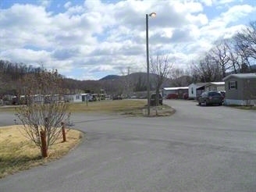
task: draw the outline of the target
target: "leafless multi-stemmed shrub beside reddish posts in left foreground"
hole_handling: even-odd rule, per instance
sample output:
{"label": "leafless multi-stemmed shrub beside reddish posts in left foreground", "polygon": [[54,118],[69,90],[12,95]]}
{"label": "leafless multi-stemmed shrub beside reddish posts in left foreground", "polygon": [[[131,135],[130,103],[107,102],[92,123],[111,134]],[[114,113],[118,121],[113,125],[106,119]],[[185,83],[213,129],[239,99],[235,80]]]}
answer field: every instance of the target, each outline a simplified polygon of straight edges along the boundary
{"label": "leafless multi-stemmed shrub beside reddish posts in left foreground", "polygon": [[17,108],[23,130],[39,148],[42,157],[62,133],[62,122],[69,118],[68,105],[62,101],[62,77],[56,71],[43,70],[22,79],[26,87],[26,104]]}

